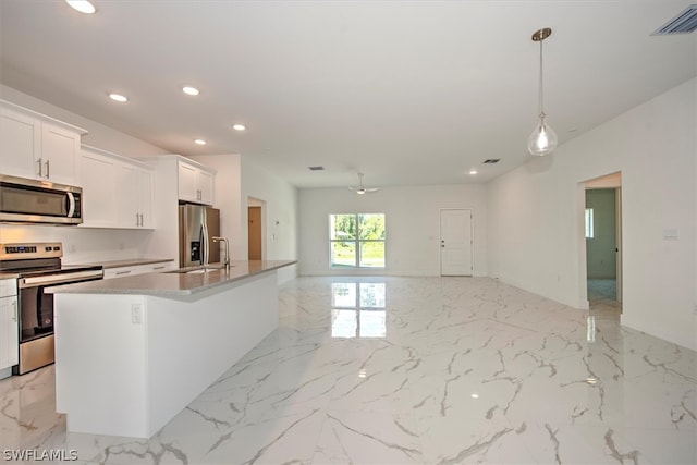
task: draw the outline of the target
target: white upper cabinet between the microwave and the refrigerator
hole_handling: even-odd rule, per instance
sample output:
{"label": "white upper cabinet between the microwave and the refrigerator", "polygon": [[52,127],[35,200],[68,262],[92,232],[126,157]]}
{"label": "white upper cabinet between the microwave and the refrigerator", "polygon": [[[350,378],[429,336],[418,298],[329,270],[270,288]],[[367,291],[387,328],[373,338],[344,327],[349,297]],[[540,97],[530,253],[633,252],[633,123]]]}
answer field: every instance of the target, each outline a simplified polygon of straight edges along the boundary
{"label": "white upper cabinet between the microwave and the refrigerator", "polygon": [[152,229],[154,170],[146,163],[83,146],[83,227]]}

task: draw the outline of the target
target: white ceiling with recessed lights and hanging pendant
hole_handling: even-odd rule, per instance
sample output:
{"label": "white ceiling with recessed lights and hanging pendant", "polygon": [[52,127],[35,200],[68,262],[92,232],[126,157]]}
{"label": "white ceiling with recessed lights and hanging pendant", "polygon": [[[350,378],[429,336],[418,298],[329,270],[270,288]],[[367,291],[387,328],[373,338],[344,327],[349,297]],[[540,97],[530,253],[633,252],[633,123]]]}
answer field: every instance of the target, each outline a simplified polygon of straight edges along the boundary
{"label": "white ceiling with recessed lights and hanging pendant", "polygon": [[694,34],[650,35],[685,0],[93,3],[0,0],[2,84],[171,152],[243,154],[298,187],[358,171],[367,186],[485,182],[524,163],[540,27],[561,144],[696,75]]}

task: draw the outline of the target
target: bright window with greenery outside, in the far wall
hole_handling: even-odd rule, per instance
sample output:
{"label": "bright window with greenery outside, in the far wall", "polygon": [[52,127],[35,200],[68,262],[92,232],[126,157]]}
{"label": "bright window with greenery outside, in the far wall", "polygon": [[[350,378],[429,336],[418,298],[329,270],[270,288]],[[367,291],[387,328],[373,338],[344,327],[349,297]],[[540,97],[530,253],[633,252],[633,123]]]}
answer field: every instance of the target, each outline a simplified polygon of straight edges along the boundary
{"label": "bright window with greenery outside, in the far wall", "polygon": [[329,216],[332,268],[384,268],[384,213]]}

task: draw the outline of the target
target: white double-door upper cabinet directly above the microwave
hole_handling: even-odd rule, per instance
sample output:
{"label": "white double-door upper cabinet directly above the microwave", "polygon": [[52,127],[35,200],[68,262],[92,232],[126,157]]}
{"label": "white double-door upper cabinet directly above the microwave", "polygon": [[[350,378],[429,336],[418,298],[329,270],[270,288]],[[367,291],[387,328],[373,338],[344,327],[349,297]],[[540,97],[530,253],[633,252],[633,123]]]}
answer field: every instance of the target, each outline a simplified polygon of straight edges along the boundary
{"label": "white double-door upper cabinet directly above the microwave", "polygon": [[87,132],[0,100],[0,172],[76,184],[80,138]]}

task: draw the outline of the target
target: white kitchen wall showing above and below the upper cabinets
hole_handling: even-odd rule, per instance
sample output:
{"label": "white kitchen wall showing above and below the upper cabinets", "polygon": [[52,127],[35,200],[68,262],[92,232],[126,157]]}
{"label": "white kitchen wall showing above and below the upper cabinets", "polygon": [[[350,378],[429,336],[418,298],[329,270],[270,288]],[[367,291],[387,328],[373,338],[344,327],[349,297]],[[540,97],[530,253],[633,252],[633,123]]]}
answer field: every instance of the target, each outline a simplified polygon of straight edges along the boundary
{"label": "white kitchen wall showing above and below the upper cabinets", "polygon": [[[127,157],[163,152],[159,147],[20,93],[11,87],[0,85],[0,98],[89,131],[89,134],[82,138],[84,144]],[[64,245],[63,261],[65,264],[142,257],[174,258],[160,255],[152,256],[149,250],[151,236],[152,231],[0,224],[0,243],[62,242]]]}

